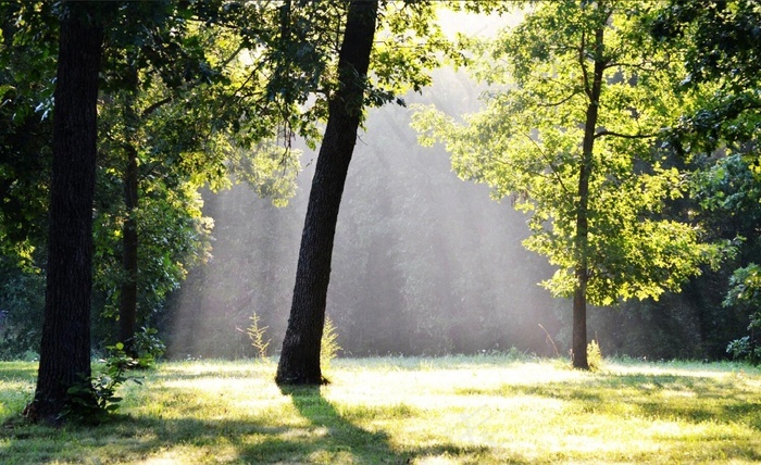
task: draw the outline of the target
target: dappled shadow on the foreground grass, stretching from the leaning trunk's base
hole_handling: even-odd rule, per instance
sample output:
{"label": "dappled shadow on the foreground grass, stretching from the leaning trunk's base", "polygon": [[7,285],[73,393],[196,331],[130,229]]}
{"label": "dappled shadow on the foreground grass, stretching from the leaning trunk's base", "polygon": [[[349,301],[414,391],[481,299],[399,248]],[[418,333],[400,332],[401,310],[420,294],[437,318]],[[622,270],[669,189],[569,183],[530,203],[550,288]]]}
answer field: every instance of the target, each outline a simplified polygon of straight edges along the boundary
{"label": "dappled shadow on the foreground grass, stretching from the leaning trunk's base", "polygon": [[[304,423],[280,422],[269,414],[202,419],[192,417],[191,407],[175,418],[115,414],[111,422],[100,426],[55,428],[18,422],[0,427],[0,463],[100,463],[116,456],[120,463],[142,462],[147,457],[192,463],[194,448],[213,448],[213,453],[224,454],[225,461],[245,464],[396,465],[423,456],[457,458],[489,453],[488,447],[451,442],[395,447],[386,432],[372,431],[348,420],[322,395],[320,388],[284,388],[282,392],[289,397]],[[173,454],[180,454],[179,458]],[[190,458],[182,454],[190,454]]]}

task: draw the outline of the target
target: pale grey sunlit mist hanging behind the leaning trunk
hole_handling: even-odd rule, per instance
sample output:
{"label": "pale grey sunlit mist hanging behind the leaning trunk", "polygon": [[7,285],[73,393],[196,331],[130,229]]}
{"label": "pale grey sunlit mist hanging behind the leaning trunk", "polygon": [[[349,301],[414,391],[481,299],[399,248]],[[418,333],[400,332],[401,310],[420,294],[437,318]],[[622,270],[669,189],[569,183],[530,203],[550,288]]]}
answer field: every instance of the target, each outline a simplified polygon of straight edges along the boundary
{"label": "pale grey sunlit mist hanging behind the leaning trunk", "polygon": [[[477,109],[463,73],[436,72],[408,103],[450,114]],[[551,275],[523,249],[527,216],[459,179],[442,147],[417,144],[412,111],[369,112],[338,217],[326,313],[345,355],[504,351],[553,354],[542,325],[559,327],[558,302],[538,286]],[[272,206],[245,185],[204,192],[214,218],[213,259],[194,269],[169,304],[173,357],[249,356],[255,312],[279,350],[316,152],[304,149],[298,193]]]}

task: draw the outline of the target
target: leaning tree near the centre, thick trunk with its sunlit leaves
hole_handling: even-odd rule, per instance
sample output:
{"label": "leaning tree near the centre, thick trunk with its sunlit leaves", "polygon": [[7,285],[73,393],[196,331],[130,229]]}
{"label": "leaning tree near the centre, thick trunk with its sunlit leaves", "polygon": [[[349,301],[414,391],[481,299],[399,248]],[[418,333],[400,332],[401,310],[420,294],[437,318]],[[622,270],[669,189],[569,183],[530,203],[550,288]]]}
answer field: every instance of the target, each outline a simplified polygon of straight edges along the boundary
{"label": "leaning tree near the centre, thick trunk with its sunlit leaves", "polygon": [[[451,52],[440,29],[432,22],[432,2],[382,4],[386,7],[383,14],[378,13],[378,4],[367,1],[314,2],[292,10],[290,2],[283,5],[279,37],[285,53],[276,56],[285,60],[275,61],[283,66],[276,67],[269,89],[286,102],[304,104],[316,97],[302,121],[313,124],[327,116],[327,127],[304,221],[294,301],[276,376],[278,384],[324,381],[320,370],[320,339],[336,219],[364,109],[394,100],[403,104],[396,95],[409,87],[420,90],[428,84],[431,77],[425,72],[438,62],[436,52]],[[344,11],[347,11],[344,41],[334,68],[333,32],[340,29]],[[336,23],[336,17],[341,23]],[[379,18],[384,20],[383,28],[376,26]],[[373,46],[376,28],[385,35],[382,43]],[[305,54],[304,50],[317,53]],[[322,55],[319,51],[327,53]],[[371,61],[373,73],[369,74]],[[289,76],[303,85],[278,86]]]}

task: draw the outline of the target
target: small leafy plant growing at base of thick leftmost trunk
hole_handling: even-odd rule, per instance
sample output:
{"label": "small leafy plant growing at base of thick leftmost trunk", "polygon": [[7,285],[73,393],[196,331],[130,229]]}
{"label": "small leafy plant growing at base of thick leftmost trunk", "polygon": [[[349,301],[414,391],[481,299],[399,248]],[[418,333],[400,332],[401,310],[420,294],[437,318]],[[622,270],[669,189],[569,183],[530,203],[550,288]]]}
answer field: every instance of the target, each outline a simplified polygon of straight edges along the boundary
{"label": "small leafy plant growing at base of thick leftmost trunk", "polygon": [[140,366],[138,359],[134,359],[124,351],[124,344],[118,342],[107,348],[109,357],[105,360],[105,369],[97,376],[82,376],[66,391],[66,405],[60,414],[60,418],[71,419],[82,424],[99,425],[108,422],[109,414],[118,410],[122,398],[116,395],[116,390],[127,380],[141,384],[135,377],[125,376],[125,372]]}

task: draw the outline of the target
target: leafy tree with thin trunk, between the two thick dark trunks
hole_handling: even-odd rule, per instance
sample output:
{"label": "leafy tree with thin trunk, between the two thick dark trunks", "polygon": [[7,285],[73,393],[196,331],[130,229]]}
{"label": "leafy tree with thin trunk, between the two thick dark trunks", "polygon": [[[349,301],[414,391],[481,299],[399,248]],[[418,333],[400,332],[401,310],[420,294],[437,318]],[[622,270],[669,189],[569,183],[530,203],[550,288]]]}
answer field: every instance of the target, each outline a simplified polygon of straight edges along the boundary
{"label": "leafy tree with thin trunk, between the two thick dark trunks", "polygon": [[[262,23],[259,8],[247,5],[251,12],[240,17],[211,2],[129,3],[113,27],[101,151],[104,177],[122,187],[122,199],[100,205],[109,232],[98,242],[108,259],[99,285],[107,294],[104,313],[117,319],[117,340],[134,355],[138,326],[155,319],[188,264],[209,256],[198,188],[208,183],[216,190],[235,176],[280,205],[294,192],[298,151],[273,150],[271,141],[275,128],[289,122],[278,120],[272,102],[240,97],[264,93],[263,79],[255,72],[247,76],[244,65],[247,38],[263,42],[258,39],[272,29],[264,22],[242,32],[245,20]],[[147,20],[137,25],[130,17]],[[145,27],[147,21],[153,27]],[[174,227],[166,227],[169,218]],[[159,241],[164,246],[154,247]]]}

